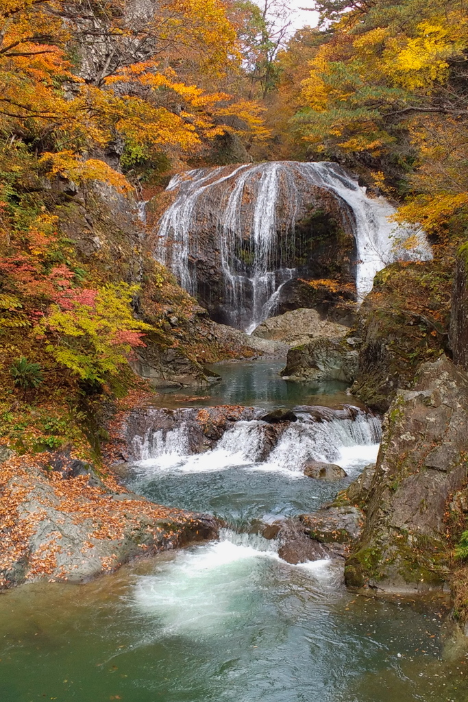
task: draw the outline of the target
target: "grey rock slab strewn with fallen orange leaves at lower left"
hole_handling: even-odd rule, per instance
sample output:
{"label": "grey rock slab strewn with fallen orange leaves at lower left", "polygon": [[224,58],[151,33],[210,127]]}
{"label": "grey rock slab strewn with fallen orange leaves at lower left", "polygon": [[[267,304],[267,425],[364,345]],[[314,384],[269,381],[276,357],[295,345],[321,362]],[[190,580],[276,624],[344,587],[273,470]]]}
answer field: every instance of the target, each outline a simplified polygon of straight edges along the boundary
{"label": "grey rock slab strewn with fallen orange leaves at lower left", "polygon": [[4,588],[41,578],[83,582],[135,557],[218,534],[219,523],[209,515],[159,508],[125,491],[91,488],[81,476],[51,480],[26,458],[15,465],[1,499],[8,502],[11,519],[2,538]]}

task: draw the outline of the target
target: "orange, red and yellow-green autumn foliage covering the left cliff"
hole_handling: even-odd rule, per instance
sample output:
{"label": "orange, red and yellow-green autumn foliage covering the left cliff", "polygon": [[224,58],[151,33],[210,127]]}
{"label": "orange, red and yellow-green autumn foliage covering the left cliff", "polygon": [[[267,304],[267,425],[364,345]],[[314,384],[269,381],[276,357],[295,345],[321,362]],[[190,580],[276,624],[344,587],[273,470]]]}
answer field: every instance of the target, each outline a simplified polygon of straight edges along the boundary
{"label": "orange, red and yellow-green autumn foliage covering the left cliff", "polygon": [[220,0],[2,4],[2,362],[36,353],[48,371],[105,383],[145,344],[149,327],[133,313],[138,289],[118,276],[96,279],[45,194],[60,179],[85,190],[97,181],[131,190],[105,157],[116,142],[128,165],[161,152],[193,157],[229,128],[228,115],[261,133],[255,105],[178,77],[174,56],[183,51],[218,78],[239,66],[236,31]]}

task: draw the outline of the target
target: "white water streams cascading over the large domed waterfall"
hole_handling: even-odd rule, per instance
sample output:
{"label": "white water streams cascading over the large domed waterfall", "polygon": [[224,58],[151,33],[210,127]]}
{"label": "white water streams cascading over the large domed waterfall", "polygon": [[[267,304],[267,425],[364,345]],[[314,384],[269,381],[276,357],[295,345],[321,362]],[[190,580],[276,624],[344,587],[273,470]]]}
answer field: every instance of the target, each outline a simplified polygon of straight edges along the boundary
{"label": "white water streams cascading over the large domed waterfall", "polygon": [[[296,277],[295,225],[309,205],[339,213],[356,241],[356,291],[363,299],[378,270],[399,258],[427,258],[422,235],[413,251],[399,251],[408,231],[389,222],[394,208],[369,198],[337,164],[272,161],[227,168],[199,168],[178,174],[168,185],[176,193],[159,222],[156,256],[196,295],[194,261],[201,258],[203,232],[214,227],[212,266],[220,265],[230,322],[252,331],[272,312],[280,287]],[[207,199],[212,198],[207,206]],[[205,276],[206,277],[206,276]],[[209,274],[208,274],[209,277]]]}

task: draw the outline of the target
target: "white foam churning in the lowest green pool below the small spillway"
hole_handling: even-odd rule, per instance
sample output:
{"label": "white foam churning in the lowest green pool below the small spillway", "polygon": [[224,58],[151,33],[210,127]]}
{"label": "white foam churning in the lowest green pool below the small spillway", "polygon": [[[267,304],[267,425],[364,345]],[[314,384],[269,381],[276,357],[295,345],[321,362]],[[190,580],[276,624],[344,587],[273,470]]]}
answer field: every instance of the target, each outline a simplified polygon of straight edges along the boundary
{"label": "white foam churning in the lowest green pool below the small spillway", "polygon": [[312,597],[340,588],[330,559],[293,565],[277,549],[276,541],[222,529],[218,541],[178,552],[171,561],[159,562],[154,574],[141,576],[133,606],[154,617],[162,635],[203,639],[225,635],[250,618],[255,597],[262,596],[275,569],[304,574],[302,587],[310,588]]}

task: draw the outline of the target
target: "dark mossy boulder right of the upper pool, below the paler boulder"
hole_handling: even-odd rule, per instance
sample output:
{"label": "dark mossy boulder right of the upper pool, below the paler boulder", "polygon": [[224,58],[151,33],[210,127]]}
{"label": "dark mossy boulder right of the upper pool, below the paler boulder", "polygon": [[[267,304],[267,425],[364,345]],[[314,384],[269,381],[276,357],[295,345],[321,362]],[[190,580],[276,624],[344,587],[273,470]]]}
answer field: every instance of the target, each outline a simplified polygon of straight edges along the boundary
{"label": "dark mossy boulder right of the upper pool, below the paler boulder", "polygon": [[320,337],[288,351],[286,380],[341,380],[352,383],[358,367],[356,339]]}

